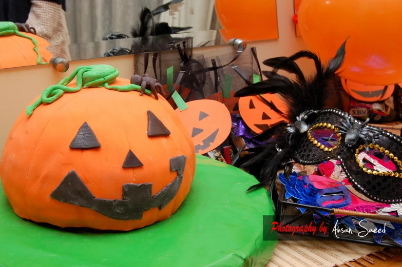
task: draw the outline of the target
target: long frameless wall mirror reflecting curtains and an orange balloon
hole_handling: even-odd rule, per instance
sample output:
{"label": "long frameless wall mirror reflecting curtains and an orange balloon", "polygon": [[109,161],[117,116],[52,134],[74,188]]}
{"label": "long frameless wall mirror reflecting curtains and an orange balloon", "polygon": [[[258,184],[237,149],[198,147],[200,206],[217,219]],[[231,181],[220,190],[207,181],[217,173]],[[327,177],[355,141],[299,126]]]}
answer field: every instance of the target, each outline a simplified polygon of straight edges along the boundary
{"label": "long frameless wall mirror reflecting curtains and an orange balloon", "polygon": [[[68,61],[170,50],[171,44],[183,40],[196,48],[226,44],[230,38],[246,41],[278,38],[276,0],[251,0],[247,3],[243,0],[26,2],[25,9],[18,6],[24,12],[14,14],[12,7],[9,10],[0,8],[0,13],[8,12],[0,14],[0,20],[21,23],[19,31],[36,39],[43,38],[44,42],[38,41],[39,47],[43,46],[52,56]],[[9,1],[10,6],[12,3]],[[259,6],[261,8],[257,8]],[[264,23],[261,25],[255,17],[264,19]],[[30,28],[35,29],[36,36]],[[51,56],[42,56],[42,61],[49,62],[48,57]],[[27,62],[11,67],[34,64]],[[0,62],[0,69],[8,66]]]}

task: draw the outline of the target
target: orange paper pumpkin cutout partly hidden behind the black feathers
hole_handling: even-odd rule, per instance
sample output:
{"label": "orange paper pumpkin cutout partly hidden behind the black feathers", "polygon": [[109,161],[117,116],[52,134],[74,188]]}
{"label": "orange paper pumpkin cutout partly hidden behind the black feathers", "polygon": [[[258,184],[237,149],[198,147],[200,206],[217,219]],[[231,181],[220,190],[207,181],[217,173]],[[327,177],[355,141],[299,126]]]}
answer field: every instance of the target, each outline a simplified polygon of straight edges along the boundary
{"label": "orange paper pumpkin cutout partly hidden behind the black feathers", "polygon": [[[277,95],[263,94],[262,97],[286,114],[288,108]],[[259,96],[240,97],[239,109],[246,125],[257,134],[270,129],[271,125],[281,120],[286,120],[280,113],[266,105]]]}

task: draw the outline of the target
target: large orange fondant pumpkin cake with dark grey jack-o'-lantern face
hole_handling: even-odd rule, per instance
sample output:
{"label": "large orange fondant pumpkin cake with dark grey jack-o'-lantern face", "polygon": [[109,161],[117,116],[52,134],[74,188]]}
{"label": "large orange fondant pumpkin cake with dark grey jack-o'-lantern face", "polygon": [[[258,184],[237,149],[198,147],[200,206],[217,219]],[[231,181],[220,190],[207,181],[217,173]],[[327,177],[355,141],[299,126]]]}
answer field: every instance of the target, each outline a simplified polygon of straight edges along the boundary
{"label": "large orange fondant pumpkin cake with dark grey jack-o'-lantern face", "polygon": [[[129,84],[118,78],[111,86]],[[41,105],[30,117],[24,112],[0,167],[17,215],[128,231],[179,208],[194,178],[195,151],[163,97],[88,88]]]}

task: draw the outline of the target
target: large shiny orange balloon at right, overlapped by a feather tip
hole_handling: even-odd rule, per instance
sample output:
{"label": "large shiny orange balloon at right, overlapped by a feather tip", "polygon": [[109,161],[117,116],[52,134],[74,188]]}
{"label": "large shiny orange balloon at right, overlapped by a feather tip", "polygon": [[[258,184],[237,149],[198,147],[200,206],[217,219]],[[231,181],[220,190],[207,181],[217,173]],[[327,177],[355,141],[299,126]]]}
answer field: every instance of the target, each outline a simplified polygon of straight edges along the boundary
{"label": "large shiny orange balloon at right, overlapped by a feather tip", "polygon": [[309,48],[326,60],[350,37],[339,75],[386,86],[402,81],[401,13],[400,0],[303,0],[298,26]]}

